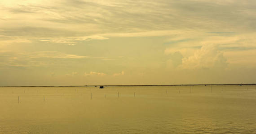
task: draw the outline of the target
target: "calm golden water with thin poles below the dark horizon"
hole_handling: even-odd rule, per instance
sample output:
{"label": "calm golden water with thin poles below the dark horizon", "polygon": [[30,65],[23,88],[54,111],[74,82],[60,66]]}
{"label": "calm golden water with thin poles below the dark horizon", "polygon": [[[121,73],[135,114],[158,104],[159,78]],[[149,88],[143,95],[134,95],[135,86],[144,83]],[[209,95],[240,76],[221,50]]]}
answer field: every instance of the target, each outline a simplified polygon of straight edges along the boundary
{"label": "calm golden water with thin poles below the dark horizon", "polygon": [[0,87],[0,133],[255,134],[256,86]]}

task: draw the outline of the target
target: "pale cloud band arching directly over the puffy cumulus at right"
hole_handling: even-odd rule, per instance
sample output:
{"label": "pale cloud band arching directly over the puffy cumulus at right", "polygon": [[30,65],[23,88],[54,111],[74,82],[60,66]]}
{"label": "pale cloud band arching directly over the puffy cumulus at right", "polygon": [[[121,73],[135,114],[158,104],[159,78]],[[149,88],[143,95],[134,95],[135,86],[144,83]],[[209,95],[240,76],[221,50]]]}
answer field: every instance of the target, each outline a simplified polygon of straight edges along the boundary
{"label": "pale cloud band arching directly over the puffy cumulus at right", "polygon": [[[225,32],[214,32],[225,33]],[[236,50],[252,50],[256,49],[256,36],[255,32],[252,33],[234,33],[234,34],[209,34],[209,33],[197,33],[197,34],[184,34],[171,36],[165,43],[165,54],[173,54],[177,51],[181,52],[184,57],[190,57],[194,55],[194,52],[201,49],[205,44],[212,44],[218,47],[218,50],[236,51]],[[193,38],[188,40],[188,38]],[[185,40],[185,42],[183,42]],[[182,42],[180,42],[182,41]],[[246,52],[245,52],[246,53]]]}

